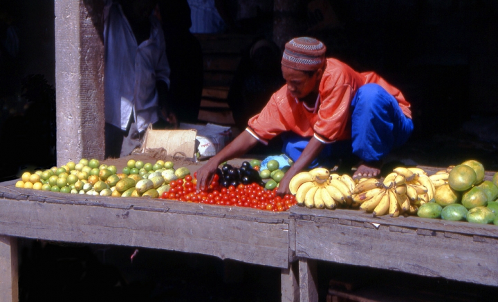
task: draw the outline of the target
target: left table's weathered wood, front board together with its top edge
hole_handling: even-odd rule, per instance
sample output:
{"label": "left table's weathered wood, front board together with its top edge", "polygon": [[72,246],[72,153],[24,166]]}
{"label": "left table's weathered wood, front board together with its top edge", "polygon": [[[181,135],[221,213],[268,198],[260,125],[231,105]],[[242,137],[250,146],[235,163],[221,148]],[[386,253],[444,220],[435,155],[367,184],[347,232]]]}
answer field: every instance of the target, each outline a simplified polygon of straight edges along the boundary
{"label": "left table's weathered wood, front board together with its top edge", "polygon": [[0,234],[208,254],[288,268],[288,213],[0,185]]}

